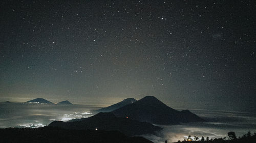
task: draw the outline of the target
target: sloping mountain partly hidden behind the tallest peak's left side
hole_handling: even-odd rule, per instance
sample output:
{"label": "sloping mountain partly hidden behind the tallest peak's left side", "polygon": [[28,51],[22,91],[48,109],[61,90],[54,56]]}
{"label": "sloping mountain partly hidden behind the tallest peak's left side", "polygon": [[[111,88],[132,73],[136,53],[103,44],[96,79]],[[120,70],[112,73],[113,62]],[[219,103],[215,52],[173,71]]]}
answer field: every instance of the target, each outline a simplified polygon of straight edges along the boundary
{"label": "sloping mountain partly hidden behind the tallest peak's left side", "polygon": [[122,106],[125,106],[127,104],[131,104],[131,103],[134,103],[136,102],[137,100],[134,99],[134,98],[126,98],[124,99],[123,101],[121,102],[118,102],[116,104],[113,104],[111,106],[108,106],[108,107],[105,107],[105,108],[101,108],[99,110],[97,110],[98,112],[111,112],[115,109],[118,109],[118,108],[121,108]]}

